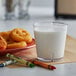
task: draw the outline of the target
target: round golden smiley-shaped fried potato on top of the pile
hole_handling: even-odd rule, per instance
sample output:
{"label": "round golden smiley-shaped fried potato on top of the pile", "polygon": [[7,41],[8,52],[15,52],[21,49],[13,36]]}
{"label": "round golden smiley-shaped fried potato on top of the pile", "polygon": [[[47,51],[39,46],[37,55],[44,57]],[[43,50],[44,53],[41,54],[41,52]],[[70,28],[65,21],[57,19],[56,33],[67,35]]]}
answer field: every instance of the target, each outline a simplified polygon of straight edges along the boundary
{"label": "round golden smiley-shaped fried potato on top of the pile", "polygon": [[15,41],[26,41],[26,43],[30,43],[32,41],[30,33],[21,28],[13,29],[10,33],[10,37]]}

